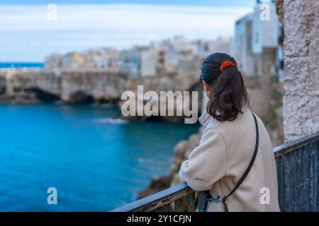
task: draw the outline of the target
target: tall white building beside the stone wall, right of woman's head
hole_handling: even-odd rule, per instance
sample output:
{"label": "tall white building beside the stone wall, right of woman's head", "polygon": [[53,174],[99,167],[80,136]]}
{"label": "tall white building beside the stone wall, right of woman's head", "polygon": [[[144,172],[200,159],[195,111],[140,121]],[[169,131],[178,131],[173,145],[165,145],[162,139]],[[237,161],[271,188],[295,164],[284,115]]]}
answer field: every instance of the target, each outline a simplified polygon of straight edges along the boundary
{"label": "tall white building beside the stone wall, right of woman's head", "polygon": [[234,55],[245,76],[278,76],[279,20],[273,3],[257,3],[235,24]]}

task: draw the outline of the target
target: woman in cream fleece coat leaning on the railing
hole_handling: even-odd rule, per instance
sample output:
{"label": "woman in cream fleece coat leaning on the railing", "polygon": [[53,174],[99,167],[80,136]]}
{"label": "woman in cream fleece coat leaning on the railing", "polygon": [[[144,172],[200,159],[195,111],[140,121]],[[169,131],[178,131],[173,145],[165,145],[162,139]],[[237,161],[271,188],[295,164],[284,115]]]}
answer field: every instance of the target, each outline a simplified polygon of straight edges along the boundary
{"label": "woman in cream fleece coat leaning on the railing", "polygon": [[209,190],[207,211],[279,211],[272,142],[247,107],[235,59],[221,53],[206,57],[200,79],[209,98],[198,119],[203,135],[179,177],[195,191]]}

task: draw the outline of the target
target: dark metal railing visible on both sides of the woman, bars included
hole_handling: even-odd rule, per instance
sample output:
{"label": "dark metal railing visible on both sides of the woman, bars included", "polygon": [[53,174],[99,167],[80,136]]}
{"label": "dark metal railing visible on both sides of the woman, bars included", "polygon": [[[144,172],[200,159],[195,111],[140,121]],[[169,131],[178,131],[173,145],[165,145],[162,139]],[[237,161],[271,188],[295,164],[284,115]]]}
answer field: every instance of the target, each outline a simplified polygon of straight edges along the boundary
{"label": "dark metal railing visible on both sides of the woman, bars included", "polygon": [[[319,132],[274,148],[281,211],[319,210]],[[176,211],[203,210],[203,192],[186,183],[112,210]]]}

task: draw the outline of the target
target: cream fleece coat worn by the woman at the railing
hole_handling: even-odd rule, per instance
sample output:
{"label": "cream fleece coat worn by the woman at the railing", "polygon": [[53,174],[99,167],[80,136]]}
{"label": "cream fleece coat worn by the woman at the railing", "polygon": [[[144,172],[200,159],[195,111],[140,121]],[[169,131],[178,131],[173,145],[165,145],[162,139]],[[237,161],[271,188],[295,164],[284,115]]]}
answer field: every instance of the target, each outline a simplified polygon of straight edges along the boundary
{"label": "cream fleece coat worn by the woman at the railing", "polygon": [[[213,198],[226,196],[244,174],[254,152],[256,129],[250,109],[242,111],[234,121],[217,121],[207,112],[198,119],[203,136],[179,171],[179,177],[195,191],[210,190]],[[230,212],[279,211],[272,142],[262,120],[257,117],[257,121],[258,153],[245,181],[227,198]],[[223,210],[222,202],[208,202],[207,211]]]}

